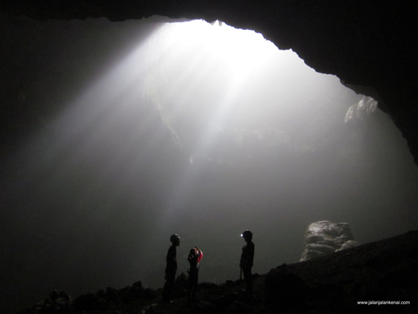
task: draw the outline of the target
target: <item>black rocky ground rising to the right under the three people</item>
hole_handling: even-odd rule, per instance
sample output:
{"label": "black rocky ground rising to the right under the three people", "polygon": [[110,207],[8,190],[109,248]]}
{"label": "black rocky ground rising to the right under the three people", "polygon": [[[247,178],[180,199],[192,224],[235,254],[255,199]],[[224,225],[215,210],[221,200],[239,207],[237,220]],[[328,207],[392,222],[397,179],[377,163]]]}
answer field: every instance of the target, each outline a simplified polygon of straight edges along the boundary
{"label": "black rocky ground rising to the right under the three people", "polygon": [[[254,274],[251,296],[244,287],[241,281],[200,283],[196,301],[187,303],[182,274],[171,304],[160,304],[161,289],[144,289],[137,282],[74,300],[54,291],[19,314],[418,313],[418,231]],[[409,304],[396,304],[404,301]]]}

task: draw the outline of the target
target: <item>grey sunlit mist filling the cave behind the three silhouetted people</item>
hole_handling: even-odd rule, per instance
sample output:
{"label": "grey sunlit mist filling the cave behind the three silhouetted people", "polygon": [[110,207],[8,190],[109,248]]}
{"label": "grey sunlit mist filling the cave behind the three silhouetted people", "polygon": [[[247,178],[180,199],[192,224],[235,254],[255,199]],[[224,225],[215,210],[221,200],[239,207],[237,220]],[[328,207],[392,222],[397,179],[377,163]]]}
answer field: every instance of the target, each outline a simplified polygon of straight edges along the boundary
{"label": "grey sunlit mist filling the cave behind the three silhouetted people", "polygon": [[[1,16],[1,304],[298,262],[310,223],[360,244],[417,228],[418,171],[380,110],[297,53],[222,22]],[[279,47],[280,48],[280,47]]]}

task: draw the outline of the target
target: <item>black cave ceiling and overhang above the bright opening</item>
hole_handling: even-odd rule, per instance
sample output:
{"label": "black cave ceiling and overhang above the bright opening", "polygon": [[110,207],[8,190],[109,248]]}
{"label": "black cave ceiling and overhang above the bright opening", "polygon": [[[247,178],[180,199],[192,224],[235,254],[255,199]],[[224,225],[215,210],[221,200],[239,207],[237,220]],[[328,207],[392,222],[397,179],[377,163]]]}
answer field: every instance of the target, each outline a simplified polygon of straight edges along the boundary
{"label": "black cave ceiling and overhang above the bright opening", "polygon": [[18,0],[1,3],[0,12],[37,20],[162,15],[254,29],[280,49],[297,52],[318,72],[337,75],[378,100],[418,163],[418,10],[412,1]]}

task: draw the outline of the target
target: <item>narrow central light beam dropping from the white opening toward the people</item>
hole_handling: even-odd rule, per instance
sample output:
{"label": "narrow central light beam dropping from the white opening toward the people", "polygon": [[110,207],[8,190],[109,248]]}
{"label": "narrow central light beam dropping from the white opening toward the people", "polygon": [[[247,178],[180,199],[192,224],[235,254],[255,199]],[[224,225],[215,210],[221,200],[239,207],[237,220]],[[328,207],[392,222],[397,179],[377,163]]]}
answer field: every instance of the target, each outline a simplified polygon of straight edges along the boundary
{"label": "narrow central light beam dropping from the white opening toward the people", "polygon": [[[238,111],[245,111],[242,95],[249,89],[249,85],[254,84],[254,80],[266,80],[258,69],[268,67],[274,58],[277,60],[279,50],[260,33],[234,29],[218,22],[209,24],[201,20],[166,24],[155,37],[163,43],[162,59],[170,61],[167,68],[175,67],[176,63],[184,66],[176,70],[176,76],[170,81],[169,90],[164,93],[162,100],[171,103],[171,114],[176,116],[191,107],[192,110],[193,107],[210,107],[206,111],[208,114],[205,116],[205,128],[190,153],[189,163],[192,165],[194,156],[210,151],[218,140],[219,131],[222,133],[222,129],[227,127],[231,116]],[[284,64],[294,63],[298,59],[291,51],[281,51],[281,55],[284,56],[281,61]],[[213,81],[222,84],[213,93],[206,93],[206,98],[196,99],[196,91]],[[176,101],[173,103],[172,99]],[[193,105],[185,105],[189,103]],[[256,106],[258,103],[254,103],[253,107]],[[251,112],[247,115],[251,115]],[[167,221],[173,219],[175,209],[182,207],[194,180],[199,179],[199,174],[192,169],[193,167],[189,167],[189,171],[185,172],[183,179],[168,198]]]}

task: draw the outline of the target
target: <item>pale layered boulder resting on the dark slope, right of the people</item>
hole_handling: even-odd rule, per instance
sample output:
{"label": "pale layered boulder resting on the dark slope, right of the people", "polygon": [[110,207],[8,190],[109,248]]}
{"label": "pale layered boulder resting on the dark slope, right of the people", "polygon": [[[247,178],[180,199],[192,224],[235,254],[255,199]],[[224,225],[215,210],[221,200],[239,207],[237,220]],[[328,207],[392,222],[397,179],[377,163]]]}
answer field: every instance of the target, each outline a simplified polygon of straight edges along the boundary
{"label": "pale layered boulder resting on the dark slope, right of the people", "polygon": [[305,249],[300,262],[358,245],[348,223],[329,220],[311,223],[304,235]]}

